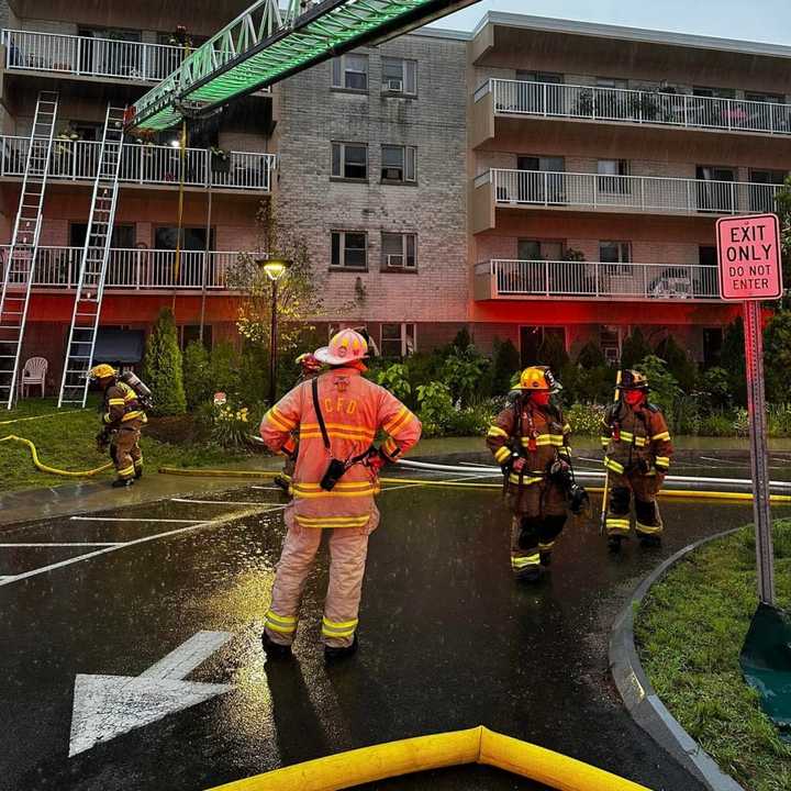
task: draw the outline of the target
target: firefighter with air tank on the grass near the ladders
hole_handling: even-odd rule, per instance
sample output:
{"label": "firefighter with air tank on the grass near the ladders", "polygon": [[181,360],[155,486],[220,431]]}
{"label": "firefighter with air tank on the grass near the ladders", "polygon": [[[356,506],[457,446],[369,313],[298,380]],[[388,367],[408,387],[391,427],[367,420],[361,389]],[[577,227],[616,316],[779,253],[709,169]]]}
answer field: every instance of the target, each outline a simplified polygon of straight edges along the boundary
{"label": "firefighter with air tank on the grass near the ladders", "polygon": [[91,368],[90,378],[97,380],[104,392],[102,430],[97,435],[97,446],[101,452],[110,447],[110,458],[118,474],[113,486],[132,486],[143,476],[140,437],[141,428],[148,420],[145,410],[137,392],[119,379],[112,366],[102,364]]}

